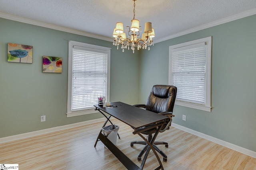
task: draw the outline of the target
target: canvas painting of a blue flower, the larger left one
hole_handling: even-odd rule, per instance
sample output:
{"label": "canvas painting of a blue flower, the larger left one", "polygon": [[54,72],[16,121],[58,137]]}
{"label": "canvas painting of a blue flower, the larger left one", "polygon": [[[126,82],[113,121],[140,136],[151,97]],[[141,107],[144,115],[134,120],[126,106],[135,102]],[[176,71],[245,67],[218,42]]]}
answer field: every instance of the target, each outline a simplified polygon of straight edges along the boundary
{"label": "canvas painting of a blue flower, the larger left one", "polygon": [[32,63],[33,46],[8,43],[7,61],[14,63]]}

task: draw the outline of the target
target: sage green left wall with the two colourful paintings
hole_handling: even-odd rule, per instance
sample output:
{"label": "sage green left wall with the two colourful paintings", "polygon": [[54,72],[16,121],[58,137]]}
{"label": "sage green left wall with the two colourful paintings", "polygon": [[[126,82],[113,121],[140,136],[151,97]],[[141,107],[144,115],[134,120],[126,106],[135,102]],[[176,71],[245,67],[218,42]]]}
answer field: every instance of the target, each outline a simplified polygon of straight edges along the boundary
{"label": "sage green left wall with the two colourful paintings", "polygon": [[[110,41],[0,18],[0,138],[102,117],[66,117],[69,40],[112,48],[110,101],[138,103],[138,53],[122,53]],[[7,62],[7,43],[32,45],[33,63]],[[43,55],[62,57],[62,73],[42,73]]]}

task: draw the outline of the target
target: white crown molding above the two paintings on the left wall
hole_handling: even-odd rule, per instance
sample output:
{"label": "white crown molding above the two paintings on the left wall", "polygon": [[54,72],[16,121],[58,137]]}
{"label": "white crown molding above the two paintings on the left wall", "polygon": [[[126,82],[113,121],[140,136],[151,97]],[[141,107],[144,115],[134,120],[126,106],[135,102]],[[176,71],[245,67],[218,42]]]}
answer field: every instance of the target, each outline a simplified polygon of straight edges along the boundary
{"label": "white crown molding above the two paintings on the left wall", "polygon": [[0,12],[0,18],[5,18],[5,19],[8,19],[8,20],[28,23],[28,24],[31,24],[31,25],[37,25],[37,26],[40,26],[40,27],[46,27],[46,28],[50,28],[50,29],[56,29],[58,31],[74,33],[74,34],[77,34],[77,35],[83,35],[83,36],[86,36],[86,37],[92,37],[92,38],[101,39],[101,40],[105,40],[105,41],[113,41],[113,39],[109,38],[109,37],[104,37],[104,36],[100,36],[100,35],[96,35],[96,34],[92,34],[92,33],[86,33],[84,31],[78,31],[76,29],[60,27],[60,26],[57,26],[57,25],[52,25],[52,24],[49,24],[49,23],[30,20],[30,19],[26,19],[26,18],[22,18],[22,17],[18,17],[18,16],[13,16],[13,15],[6,14],[6,13],[3,13],[3,12]]}

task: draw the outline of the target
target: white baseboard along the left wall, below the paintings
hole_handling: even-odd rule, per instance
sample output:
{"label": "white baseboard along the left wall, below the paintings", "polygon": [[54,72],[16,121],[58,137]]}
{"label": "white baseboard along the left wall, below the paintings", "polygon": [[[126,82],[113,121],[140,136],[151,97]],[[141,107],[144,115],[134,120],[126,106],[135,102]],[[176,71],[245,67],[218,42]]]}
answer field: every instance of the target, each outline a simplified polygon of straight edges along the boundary
{"label": "white baseboard along the left wall, below the paintings", "polygon": [[101,122],[101,121],[105,121],[105,120],[106,120],[106,118],[103,117],[103,118],[99,118],[99,119],[82,121],[82,122],[73,123],[73,124],[69,124],[69,125],[52,127],[52,128],[48,128],[48,129],[42,129],[42,130],[39,130],[39,131],[33,131],[33,132],[28,132],[28,133],[22,133],[22,134],[19,134],[19,135],[3,137],[3,138],[0,138],[0,143],[6,143],[6,142],[10,142],[10,141],[16,141],[16,140],[19,140],[19,139],[28,138],[28,137],[44,135],[46,133],[61,131],[61,130],[64,130],[64,129],[70,129],[70,128],[73,128],[73,127],[88,125],[88,124],[97,123],[97,122]]}

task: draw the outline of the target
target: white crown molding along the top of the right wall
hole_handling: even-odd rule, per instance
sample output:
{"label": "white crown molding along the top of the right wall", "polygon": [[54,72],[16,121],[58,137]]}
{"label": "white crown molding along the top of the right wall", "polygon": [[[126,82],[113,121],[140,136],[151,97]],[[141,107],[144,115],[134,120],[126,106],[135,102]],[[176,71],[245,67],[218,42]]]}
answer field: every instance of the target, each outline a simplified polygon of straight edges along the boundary
{"label": "white crown molding along the top of the right wall", "polygon": [[227,22],[230,22],[230,21],[238,20],[240,18],[245,18],[245,17],[252,16],[252,15],[255,15],[255,14],[256,14],[256,8],[254,8],[252,10],[242,12],[242,13],[239,13],[239,14],[236,14],[236,15],[233,15],[233,16],[223,18],[221,20],[213,21],[213,22],[210,22],[210,23],[206,23],[204,25],[200,25],[198,27],[187,29],[185,31],[181,31],[179,33],[175,33],[175,34],[169,35],[169,36],[161,38],[161,39],[157,39],[156,41],[154,41],[154,43],[159,43],[159,42],[162,42],[162,41],[166,41],[168,39],[172,39],[172,38],[175,38],[175,37],[180,37],[182,35],[193,33],[193,32],[196,32],[196,31],[200,31],[202,29],[206,29],[206,28],[209,28],[209,27],[214,27],[216,25],[220,25],[220,24],[227,23]]}

